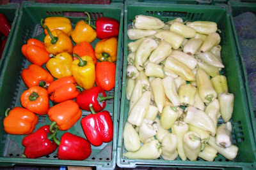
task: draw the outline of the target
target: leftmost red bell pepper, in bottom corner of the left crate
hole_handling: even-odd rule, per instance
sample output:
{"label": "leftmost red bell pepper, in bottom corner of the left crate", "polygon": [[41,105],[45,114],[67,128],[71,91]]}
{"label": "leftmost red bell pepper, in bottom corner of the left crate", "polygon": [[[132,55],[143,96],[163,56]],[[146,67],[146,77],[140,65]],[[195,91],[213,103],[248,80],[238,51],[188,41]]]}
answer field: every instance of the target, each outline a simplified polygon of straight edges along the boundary
{"label": "leftmost red bell pepper, in bottom corner of the left crate", "polygon": [[57,131],[52,134],[49,127],[44,125],[22,139],[22,145],[25,147],[24,154],[27,158],[44,157],[57,149],[58,145],[52,140]]}

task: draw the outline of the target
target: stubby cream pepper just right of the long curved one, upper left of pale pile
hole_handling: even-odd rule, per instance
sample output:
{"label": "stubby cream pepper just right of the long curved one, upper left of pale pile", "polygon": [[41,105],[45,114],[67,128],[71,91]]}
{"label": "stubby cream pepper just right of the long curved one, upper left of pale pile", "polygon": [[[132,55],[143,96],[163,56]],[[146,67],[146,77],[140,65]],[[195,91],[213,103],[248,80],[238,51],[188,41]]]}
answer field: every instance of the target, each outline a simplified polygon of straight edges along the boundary
{"label": "stubby cream pepper just right of the long curved one, upper left of pale pile", "polygon": [[157,48],[150,54],[149,62],[159,64],[172,53],[172,46],[165,41],[160,41]]}

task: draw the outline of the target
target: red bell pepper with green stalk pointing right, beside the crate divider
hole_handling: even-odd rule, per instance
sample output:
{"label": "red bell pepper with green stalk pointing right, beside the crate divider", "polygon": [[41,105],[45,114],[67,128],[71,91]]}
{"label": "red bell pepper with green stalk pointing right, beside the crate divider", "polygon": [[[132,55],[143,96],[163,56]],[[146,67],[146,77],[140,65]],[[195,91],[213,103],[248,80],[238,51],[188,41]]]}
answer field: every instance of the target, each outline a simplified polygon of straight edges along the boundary
{"label": "red bell pepper with green stalk pointing right, beside the crate divider", "polygon": [[98,87],[94,86],[91,89],[83,90],[77,97],[76,103],[82,110],[90,110],[90,103],[93,104],[93,110],[96,112],[104,110],[106,107],[106,100],[113,99],[114,96],[107,96],[106,92]]}

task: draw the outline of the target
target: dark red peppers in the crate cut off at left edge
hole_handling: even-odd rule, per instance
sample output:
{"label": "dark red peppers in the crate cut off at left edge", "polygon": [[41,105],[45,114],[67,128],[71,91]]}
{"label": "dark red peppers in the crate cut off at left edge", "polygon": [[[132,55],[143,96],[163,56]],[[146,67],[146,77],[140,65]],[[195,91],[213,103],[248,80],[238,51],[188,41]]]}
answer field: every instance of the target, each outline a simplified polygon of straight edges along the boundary
{"label": "dark red peppers in the crate cut off at left edge", "polygon": [[6,18],[6,15],[4,13],[0,13],[0,59],[2,58],[3,52],[4,52],[4,46],[6,45],[7,38],[11,31],[11,25],[8,19]]}

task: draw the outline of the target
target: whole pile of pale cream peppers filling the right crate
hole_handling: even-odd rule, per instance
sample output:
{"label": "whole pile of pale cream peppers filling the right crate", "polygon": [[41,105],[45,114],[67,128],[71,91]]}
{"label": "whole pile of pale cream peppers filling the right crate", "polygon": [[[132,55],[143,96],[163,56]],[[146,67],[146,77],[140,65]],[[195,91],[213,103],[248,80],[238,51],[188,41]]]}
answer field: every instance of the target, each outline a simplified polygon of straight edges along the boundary
{"label": "whole pile of pale cream peppers filling the right crate", "polygon": [[164,23],[147,15],[132,22],[123,156],[213,161],[220,153],[235,159],[234,94],[228,92],[217,24],[182,18]]}

